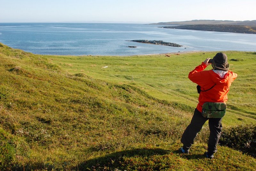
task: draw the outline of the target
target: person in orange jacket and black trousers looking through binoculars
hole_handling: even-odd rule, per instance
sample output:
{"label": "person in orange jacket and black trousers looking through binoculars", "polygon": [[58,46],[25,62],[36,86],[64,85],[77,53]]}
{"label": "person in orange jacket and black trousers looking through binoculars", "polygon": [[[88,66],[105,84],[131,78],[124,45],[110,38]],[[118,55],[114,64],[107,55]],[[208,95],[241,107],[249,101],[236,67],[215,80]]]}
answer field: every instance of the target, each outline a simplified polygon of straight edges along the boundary
{"label": "person in orange jacket and black trousers looking through binoculars", "polygon": [[[221,105],[226,106],[229,88],[231,83],[236,79],[237,74],[229,70],[228,57],[225,53],[219,52],[214,56],[212,62],[209,62],[209,60],[210,58],[206,58],[201,65],[197,66],[188,74],[188,78],[201,87],[199,87],[201,92],[198,98],[199,103],[196,106],[192,120],[181,137],[183,147],[180,148],[180,152],[189,153],[189,149],[194,144],[194,139],[198,132],[204,123],[209,120],[210,136],[208,140],[208,151],[204,155],[209,159],[213,159],[213,154],[217,152],[217,144],[221,135],[222,117],[214,117],[214,114],[211,115],[211,113],[208,117],[203,116],[203,106],[204,104],[208,105],[208,102],[212,102],[214,105],[221,103]],[[213,69],[204,71],[210,64],[212,64]]]}

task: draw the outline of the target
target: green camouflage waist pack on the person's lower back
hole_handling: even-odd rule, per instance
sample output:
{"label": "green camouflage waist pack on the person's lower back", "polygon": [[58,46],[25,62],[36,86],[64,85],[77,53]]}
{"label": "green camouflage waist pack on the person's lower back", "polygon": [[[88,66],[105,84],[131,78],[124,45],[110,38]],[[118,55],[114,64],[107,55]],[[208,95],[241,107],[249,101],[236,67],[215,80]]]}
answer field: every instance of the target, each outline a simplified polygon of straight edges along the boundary
{"label": "green camouflage waist pack on the person's lower back", "polygon": [[205,118],[222,118],[226,113],[225,103],[206,102],[203,105],[202,115]]}

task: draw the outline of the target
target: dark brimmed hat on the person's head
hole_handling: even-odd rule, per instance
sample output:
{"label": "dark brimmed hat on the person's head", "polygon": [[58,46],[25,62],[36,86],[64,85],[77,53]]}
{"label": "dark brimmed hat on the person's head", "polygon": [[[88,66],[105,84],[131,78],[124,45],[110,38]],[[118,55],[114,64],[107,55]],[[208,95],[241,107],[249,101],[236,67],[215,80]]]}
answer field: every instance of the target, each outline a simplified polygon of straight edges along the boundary
{"label": "dark brimmed hat on the person's head", "polygon": [[228,57],[225,53],[219,52],[212,59],[212,67],[216,70],[228,71]]}

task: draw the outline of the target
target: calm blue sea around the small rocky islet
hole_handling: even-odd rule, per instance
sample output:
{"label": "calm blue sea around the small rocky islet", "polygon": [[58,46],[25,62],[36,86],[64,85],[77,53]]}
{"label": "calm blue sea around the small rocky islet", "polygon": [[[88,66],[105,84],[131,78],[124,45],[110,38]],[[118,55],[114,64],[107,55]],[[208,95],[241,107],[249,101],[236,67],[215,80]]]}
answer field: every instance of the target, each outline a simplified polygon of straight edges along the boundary
{"label": "calm blue sea around the small rocky islet", "polygon": [[[52,55],[139,55],[178,51],[256,50],[256,34],[158,27],[110,23],[0,23],[0,42],[35,54]],[[163,40],[183,47],[126,41],[136,39]]]}

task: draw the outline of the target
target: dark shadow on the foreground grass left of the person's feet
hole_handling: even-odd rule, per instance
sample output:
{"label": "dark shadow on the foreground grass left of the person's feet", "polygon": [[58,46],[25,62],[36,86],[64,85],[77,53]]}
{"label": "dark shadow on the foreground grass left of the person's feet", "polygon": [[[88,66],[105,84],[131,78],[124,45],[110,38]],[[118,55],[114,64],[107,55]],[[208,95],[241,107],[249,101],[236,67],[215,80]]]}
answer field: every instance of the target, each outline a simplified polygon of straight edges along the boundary
{"label": "dark shadow on the foreground grass left of the person's feet", "polygon": [[90,159],[81,163],[76,167],[78,170],[113,170],[115,168],[125,167],[124,158],[130,157],[150,157],[153,155],[169,154],[170,150],[163,150],[160,148],[148,149],[140,148],[133,150],[126,150],[121,152],[114,152],[103,157]]}

